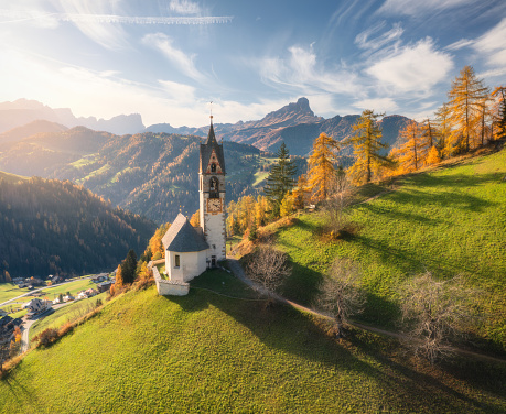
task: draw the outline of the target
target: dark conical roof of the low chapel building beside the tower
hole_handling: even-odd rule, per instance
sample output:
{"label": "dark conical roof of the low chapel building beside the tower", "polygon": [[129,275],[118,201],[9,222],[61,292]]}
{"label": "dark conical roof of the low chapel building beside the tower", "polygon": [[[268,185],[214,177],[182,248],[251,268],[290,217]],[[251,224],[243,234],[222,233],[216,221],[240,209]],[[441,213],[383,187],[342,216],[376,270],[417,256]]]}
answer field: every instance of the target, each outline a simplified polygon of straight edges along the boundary
{"label": "dark conical roof of the low chapel building beside the tower", "polygon": [[181,213],[175,218],[165,236],[162,238],[165,250],[185,253],[191,251],[202,251],[209,248],[209,244],[190,224],[189,219]]}

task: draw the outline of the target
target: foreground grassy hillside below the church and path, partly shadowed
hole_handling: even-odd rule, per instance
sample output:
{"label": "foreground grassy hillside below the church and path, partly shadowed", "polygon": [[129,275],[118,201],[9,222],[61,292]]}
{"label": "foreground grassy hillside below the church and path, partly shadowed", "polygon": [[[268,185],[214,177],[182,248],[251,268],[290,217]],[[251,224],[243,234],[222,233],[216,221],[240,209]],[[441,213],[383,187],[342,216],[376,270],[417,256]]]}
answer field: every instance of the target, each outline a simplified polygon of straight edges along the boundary
{"label": "foreground grassy hillside below the church and path, partly shadowed", "polygon": [[[227,273],[194,286],[243,295]],[[249,297],[249,295],[247,295]],[[2,413],[471,412],[506,410],[503,369],[415,368],[391,344],[340,345],[315,322],[262,301],[192,288],[130,292],[0,381]]]}

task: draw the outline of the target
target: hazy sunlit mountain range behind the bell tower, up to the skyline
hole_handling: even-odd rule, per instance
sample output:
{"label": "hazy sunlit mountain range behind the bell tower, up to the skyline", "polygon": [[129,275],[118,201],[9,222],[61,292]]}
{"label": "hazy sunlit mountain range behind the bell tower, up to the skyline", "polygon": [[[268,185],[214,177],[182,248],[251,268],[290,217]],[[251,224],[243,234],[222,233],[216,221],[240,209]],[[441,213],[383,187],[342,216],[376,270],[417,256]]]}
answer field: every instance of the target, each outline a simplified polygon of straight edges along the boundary
{"label": "hazy sunlit mountain range behind the bell tower, up to the skyline", "polygon": [[[25,100],[13,103],[32,108],[32,115],[53,118],[32,120],[0,133],[0,171],[71,179],[114,205],[143,214],[159,224],[173,220],[180,208],[189,215],[198,208],[198,142],[207,135],[208,126],[158,124],[142,129],[141,133],[115,134],[83,126],[68,128],[65,122],[51,120],[62,113],[72,115],[69,110],[53,110]],[[0,124],[6,124],[2,117],[12,107],[0,103]],[[18,115],[26,116],[23,111],[20,109]],[[216,135],[224,139],[227,199],[237,200],[261,190],[269,165],[276,159],[272,151],[281,142],[286,142],[301,174],[305,172],[305,156],[313,140],[321,132],[337,141],[349,138],[358,117],[324,119],[314,115],[308,99],[300,98],[261,120],[216,123]],[[399,130],[408,121],[401,116],[383,118],[384,141],[395,144]],[[344,166],[351,164],[349,146],[343,145],[340,155]]]}

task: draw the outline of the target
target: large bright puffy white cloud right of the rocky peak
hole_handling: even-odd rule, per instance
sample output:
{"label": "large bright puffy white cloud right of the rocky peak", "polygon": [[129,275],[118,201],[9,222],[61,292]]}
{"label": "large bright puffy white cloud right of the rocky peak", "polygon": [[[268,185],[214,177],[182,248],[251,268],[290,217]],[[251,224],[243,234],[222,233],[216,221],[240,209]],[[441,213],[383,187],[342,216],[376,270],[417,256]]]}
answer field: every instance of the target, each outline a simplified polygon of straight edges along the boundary
{"label": "large bright puffy white cloud right of the rocky peak", "polygon": [[435,51],[432,40],[427,37],[374,63],[366,73],[379,80],[386,90],[394,88],[397,92],[429,92],[435,84],[446,78],[452,67],[450,55]]}

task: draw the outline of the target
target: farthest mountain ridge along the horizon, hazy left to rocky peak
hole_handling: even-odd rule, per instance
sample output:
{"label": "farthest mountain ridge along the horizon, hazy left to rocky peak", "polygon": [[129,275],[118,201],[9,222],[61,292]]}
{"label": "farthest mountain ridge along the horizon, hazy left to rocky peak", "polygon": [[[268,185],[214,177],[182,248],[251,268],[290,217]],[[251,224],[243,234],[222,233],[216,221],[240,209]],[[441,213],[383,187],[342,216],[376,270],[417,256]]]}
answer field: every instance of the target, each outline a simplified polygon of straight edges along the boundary
{"label": "farthest mountain ridge along the horizon, hazy left to rocky peak", "polygon": [[[353,135],[353,124],[359,115],[335,116],[322,118],[314,115],[308,98],[299,98],[284,107],[266,115],[260,120],[238,121],[236,123],[215,123],[216,135],[225,141],[240,142],[254,145],[262,151],[274,152],[284,142],[292,155],[308,156],[313,140],[325,132],[337,141]],[[142,124],[139,113],[120,115],[109,120],[94,117],[76,118],[69,109],[52,109],[34,100],[19,99],[14,102],[0,103],[0,143],[19,139],[19,128],[24,126],[35,133],[35,120],[55,122],[61,127],[72,128],[83,126],[95,131],[107,131],[112,134],[134,134],[139,132],[175,133],[180,135],[207,137],[208,126],[204,127],[172,127],[170,123],[157,123],[148,128]],[[410,121],[400,115],[385,117],[379,123],[383,127],[384,142],[392,146],[399,135],[399,130]],[[24,123],[23,123],[24,122]],[[26,123],[32,122],[28,128]],[[43,121],[37,121],[43,122]],[[36,132],[55,132],[47,130],[47,124],[40,124]],[[7,128],[9,127],[9,128]],[[60,127],[60,128],[61,128]],[[7,129],[17,129],[17,133]],[[44,129],[45,128],[45,129]],[[29,135],[25,134],[24,138]],[[342,156],[349,157],[352,148],[342,148]]]}

